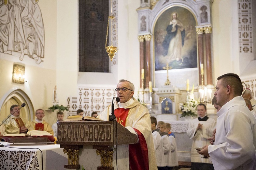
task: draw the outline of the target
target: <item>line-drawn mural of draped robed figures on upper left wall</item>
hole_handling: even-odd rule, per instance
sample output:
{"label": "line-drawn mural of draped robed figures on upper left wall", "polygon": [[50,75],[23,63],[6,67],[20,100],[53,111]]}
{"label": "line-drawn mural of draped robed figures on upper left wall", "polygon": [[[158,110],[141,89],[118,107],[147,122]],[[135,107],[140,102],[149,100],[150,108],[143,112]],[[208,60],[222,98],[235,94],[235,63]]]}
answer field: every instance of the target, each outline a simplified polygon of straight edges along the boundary
{"label": "line-drawn mural of draped robed figures on upper left wall", "polygon": [[44,23],[38,1],[0,0],[1,53],[43,62]]}

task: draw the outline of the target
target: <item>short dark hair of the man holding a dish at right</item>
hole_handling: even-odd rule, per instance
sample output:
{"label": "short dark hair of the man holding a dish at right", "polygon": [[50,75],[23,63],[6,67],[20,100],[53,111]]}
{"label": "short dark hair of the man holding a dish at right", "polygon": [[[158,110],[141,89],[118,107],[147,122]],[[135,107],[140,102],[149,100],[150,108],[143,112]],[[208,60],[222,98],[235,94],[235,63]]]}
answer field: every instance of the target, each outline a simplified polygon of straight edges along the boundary
{"label": "short dark hair of the man holding a dish at right", "polygon": [[227,87],[228,85],[234,89],[234,95],[235,96],[241,96],[243,92],[243,84],[241,82],[241,79],[237,74],[234,73],[227,73],[224,75],[221,75],[217,78],[217,80],[222,79],[222,86]]}

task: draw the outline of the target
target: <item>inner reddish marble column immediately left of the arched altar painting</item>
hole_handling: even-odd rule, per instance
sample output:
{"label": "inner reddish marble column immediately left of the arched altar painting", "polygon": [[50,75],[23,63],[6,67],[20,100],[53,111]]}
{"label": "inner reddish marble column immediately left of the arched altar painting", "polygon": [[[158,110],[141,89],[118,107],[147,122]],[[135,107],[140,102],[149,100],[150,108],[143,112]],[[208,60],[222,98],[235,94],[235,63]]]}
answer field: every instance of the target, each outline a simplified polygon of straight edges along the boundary
{"label": "inner reddish marble column immediately left of the arched altar painting", "polygon": [[146,46],[145,46],[145,88],[148,88],[148,82],[151,81],[151,60],[150,60],[150,40],[151,35],[144,35]]}

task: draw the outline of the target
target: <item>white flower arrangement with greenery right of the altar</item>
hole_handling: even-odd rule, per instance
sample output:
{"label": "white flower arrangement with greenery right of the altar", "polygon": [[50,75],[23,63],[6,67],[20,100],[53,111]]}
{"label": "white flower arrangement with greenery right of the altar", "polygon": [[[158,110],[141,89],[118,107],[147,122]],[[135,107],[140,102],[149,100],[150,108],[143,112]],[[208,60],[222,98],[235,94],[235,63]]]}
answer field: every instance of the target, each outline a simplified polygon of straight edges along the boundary
{"label": "white flower arrangement with greenery right of the altar", "polygon": [[198,101],[190,99],[189,101],[185,103],[180,103],[180,109],[181,109],[181,117],[185,116],[197,116],[197,105]]}

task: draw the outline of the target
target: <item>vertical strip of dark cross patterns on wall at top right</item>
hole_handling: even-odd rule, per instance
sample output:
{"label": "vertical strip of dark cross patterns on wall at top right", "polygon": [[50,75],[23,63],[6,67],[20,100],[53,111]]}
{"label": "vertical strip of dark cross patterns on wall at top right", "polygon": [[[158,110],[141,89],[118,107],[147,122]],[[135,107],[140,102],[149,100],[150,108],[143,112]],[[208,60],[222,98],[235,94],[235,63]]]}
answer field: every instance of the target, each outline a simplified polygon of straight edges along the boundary
{"label": "vertical strip of dark cross patterns on wall at top right", "polygon": [[238,30],[240,53],[253,52],[252,0],[238,0]]}

